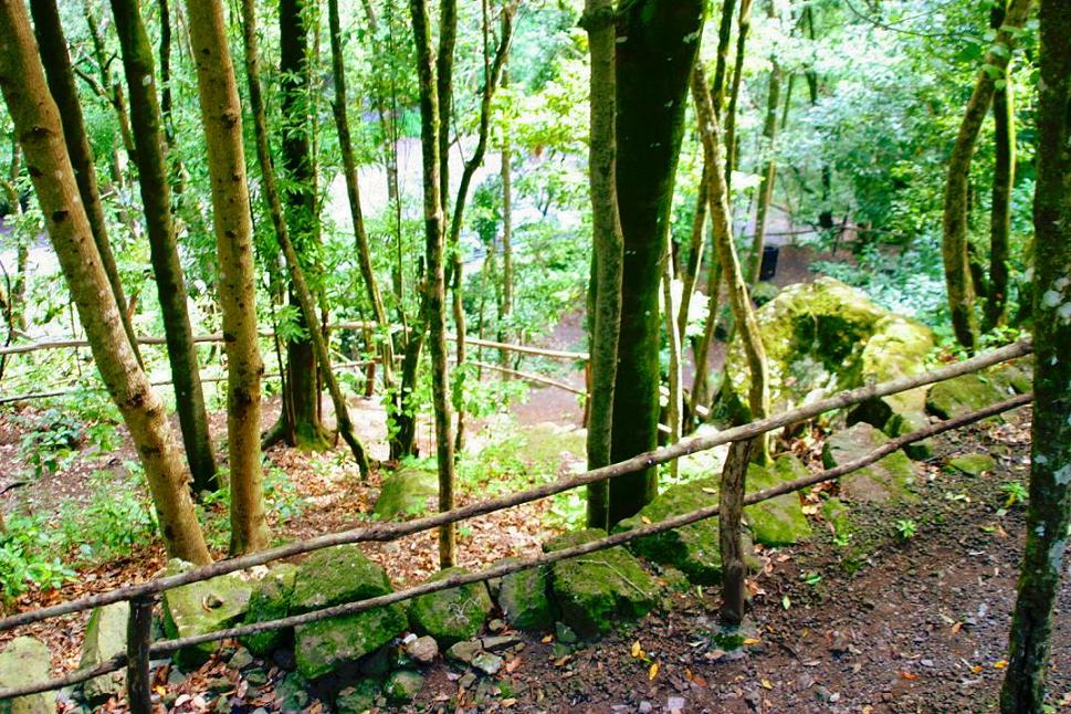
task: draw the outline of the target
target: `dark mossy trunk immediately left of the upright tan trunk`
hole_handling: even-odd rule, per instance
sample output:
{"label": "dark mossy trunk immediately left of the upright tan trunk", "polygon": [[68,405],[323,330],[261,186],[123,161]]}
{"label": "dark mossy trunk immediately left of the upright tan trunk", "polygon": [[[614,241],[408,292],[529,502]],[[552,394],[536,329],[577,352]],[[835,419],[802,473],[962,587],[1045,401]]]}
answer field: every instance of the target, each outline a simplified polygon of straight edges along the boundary
{"label": "dark mossy trunk immediately left of the upright tan trunk", "polygon": [[219,489],[216,456],[208,430],[193,328],[186,308],[186,279],[171,220],[171,187],[164,158],[162,119],[156,99],[156,83],[153,81],[153,49],[141,22],[138,0],[112,0],[112,14],[119,34],[123,66],[130,93],[130,125],[137,151],[138,185],[186,459],[190,464],[195,493],[216,491]]}

